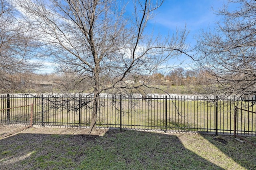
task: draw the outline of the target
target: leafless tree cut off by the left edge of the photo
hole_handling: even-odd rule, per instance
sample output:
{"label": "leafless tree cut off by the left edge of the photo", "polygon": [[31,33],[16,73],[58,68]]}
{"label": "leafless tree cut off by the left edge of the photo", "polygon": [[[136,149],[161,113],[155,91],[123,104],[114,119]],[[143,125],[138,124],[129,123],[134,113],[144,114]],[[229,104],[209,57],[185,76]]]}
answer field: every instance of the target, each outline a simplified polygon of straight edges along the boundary
{"label": "leafless tree cut off by the left edge of the photo", "polygon": [[38,41],[28,24],[20,18],[12,1],[0,0],[0,89],[10,92],[20,90],[22,83],[12,81],[12,74],[33,71],[38,63],[31,62],[36,57]]}

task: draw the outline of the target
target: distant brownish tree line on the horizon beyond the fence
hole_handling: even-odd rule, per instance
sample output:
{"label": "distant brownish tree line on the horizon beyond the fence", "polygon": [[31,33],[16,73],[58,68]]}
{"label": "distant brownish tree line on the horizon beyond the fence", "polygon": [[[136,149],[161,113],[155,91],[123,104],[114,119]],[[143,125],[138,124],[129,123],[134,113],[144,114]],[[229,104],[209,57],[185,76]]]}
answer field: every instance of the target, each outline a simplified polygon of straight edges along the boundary
{"label": "distant brownish tree line on the horizon beyond the fence", "polygon": [[[166,75],[161,73],[153,73],[148,76],[139,76],[133,75],[124,80],[124,84],[128,84],[130,86],[139,85],[146,83],[151,86],[205,86],[210,85],[212,82],[207,81],[205,77],[208,76],[210,79],[210,75],[207,72],[199,72],[195,70],[185,70],[182,67],[175,68],[168,72]],[[73,84],[68,84],[71,81],[77,81],[77,75],[75,73],[65,73],[65,74],[57,74],[57,73],[44,73],[44,74],[36,74],[34,72],[25,72],[25,73],[16,73],[16,74],[6,74],[6,79],[8,79],[9,84],[5,84],[6,86],[2,89],[2,92],[8,93],[44,93],[44,92],[64,92],[66,90],[82,90],[83,86],[73,86]],[[105,76],[104,79],[106,82],[111,82],[111,77]],[[82,80],[80,80],[82,81]],[[84,82],[86,83],[86,82]],[[12,86],[19,87],[19,89],[12,88]],[[93,86],[92,84],[88,84],[87,86]],[[85,92],[90,92],[85,91]]]}

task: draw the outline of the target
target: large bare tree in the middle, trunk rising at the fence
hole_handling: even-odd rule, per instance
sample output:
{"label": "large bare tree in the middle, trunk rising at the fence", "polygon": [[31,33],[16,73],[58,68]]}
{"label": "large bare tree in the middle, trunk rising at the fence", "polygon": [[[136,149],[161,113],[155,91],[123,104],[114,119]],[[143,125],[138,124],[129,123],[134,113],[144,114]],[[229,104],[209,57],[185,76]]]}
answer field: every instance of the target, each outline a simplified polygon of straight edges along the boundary
{"label": "large bare tree in the middle, trunk rising at the fence", "polygon": [[[124,2],[18,0],[28,21],[36,23],[34,29],[40,31],[48,52],[55,57],[58,71],[73,75],[72,82],[67,82],[72,92],[93,94],[92,130],[100,93],[129,93],[147,86],[148,75],[188,48],[186,29],[173,37],[154,37],[146,31],[163,0],[134,0],[132,14]],[[142,80],[126,81],[133,75]],[[65,89],[65,93],[70,90]]]}

